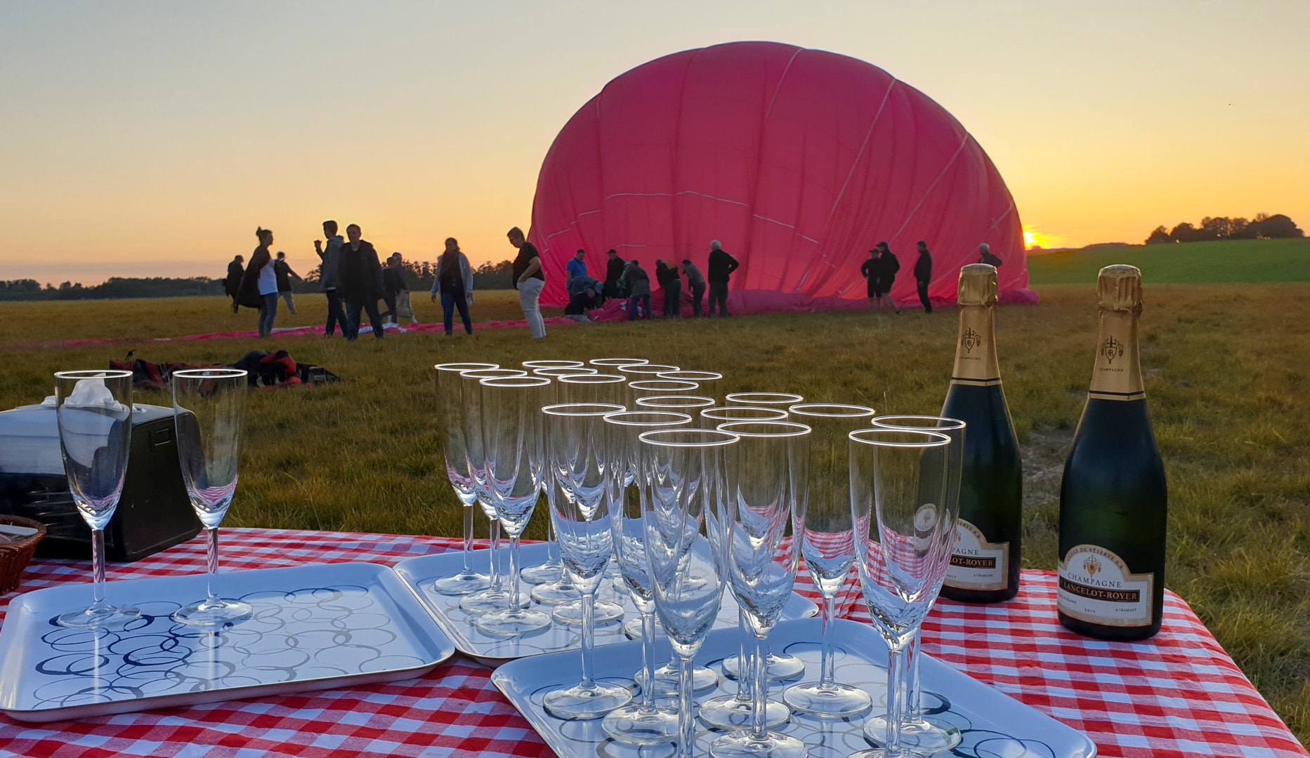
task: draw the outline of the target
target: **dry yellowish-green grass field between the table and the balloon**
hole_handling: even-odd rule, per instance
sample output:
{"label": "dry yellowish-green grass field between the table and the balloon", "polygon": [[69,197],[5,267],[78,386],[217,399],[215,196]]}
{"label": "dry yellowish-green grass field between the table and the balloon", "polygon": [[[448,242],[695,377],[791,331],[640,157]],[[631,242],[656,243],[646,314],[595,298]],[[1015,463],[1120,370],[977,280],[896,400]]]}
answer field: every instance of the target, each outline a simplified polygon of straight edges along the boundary
{"label": "dry yellowish-green grass field between the table and the balloon", "polygon": [[[1093,280],[1094,271],[1078,287],[1038,287],[1040,305],[1003,308],[997,317],[1006,395],[1024,450],[1026,567],[1056,564],[1060,467],[1094,350]],[[318,322],[321,298],[300,300],[296,322]],[[1302,741],[1310,738],[1307,300],[1306,283],[1169,285],[1148,275],[1142,316],[1146,390],[1170,482],[1166,584],[1192,604]],[[421,305],[419,318],[432,319],[435,306],[426,298]],[[512,293],[482,293],[474,313],[514,318],[517,308]],[[250,329],[254,314],[233,317],[219,298],[0,304],[0,344],[140,338],[3,350],[0,407],[39,401],[54,370],[103,367],[130,348],[147,360],[231,363],[248,350],[283,347],[346,381],[250,397],[241,488],[228,524],[455,535],[458,507],[439,465],[435,363],[635,355],[722,370],[723,391],[782,390],[879,412],[934,412],[956,334],[955,313],[941,309],[570,326],[544,343],[524,330],[490,329],[381,343],[365,335],[354,344],[317,336],[149,342],[233,323]],[[169,403],[164,394],[138,399]],[[533,534],[541,532],[538,521]]]}

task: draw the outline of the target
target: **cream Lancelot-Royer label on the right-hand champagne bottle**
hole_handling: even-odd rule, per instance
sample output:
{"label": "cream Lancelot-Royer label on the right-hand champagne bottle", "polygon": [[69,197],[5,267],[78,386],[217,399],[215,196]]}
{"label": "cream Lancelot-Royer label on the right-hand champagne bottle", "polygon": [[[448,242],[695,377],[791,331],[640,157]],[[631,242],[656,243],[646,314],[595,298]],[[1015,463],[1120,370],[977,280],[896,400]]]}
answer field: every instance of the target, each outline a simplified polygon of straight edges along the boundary
{"label": "cream Lancelot-Royer label on the right-hand champagne bottle", "polygon": [[1060,613],[1102,626],[1149,626],[1154,573],[1133,573],[1112,551],[1076,545],[1060,562]]}

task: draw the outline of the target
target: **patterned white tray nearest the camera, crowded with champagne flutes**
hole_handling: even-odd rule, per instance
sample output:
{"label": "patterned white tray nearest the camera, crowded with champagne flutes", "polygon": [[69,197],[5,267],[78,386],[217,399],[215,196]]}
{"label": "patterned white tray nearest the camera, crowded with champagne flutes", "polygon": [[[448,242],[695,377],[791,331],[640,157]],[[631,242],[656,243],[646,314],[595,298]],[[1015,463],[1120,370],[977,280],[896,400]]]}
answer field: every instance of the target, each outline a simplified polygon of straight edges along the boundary
{"label": "patterned white tray nearest the camera, crowded with champagne flutes", "polygon": [[[869,624],[838,619],[834,622],[837,681],[855,685],[874,699],[874,713],[886,711],[887,647]],[[799,682],[817,679],[819,676],[819,619],[779,623],[769,635],[772,651],[786,651],[806,662],[803,678],[772,682],[772,698],[781,699],[782,690]],[[723,694],[736,693],[736,681],[723,677],[720,661],[736,655],[740,638],[735,630],[715,630],[705,640],[696,661],[719,673],[719,686],[697,695],[697,703]],[[664,640],[656,648],[658,656],[669,652]],[[658,660],[658,659],[656,659]],[[641,666],[641,643],[609,645],[596,651],[597,679],[633,685],[633,673]],[[565,758],[638,758],[664,755],[660,748],[620,745],[601,731],[600,719],[592,721],[566,721],[542,708],[541,700],[558,687],[571,686],[579,678],[578,656],[561,653],[508,662],[491,674],[491,681],[541,734],[546,745]],[[1086,734],[1065,727],[1060,721],[963,674],[951,666],[924,656],[920,664],[924,687],[924,707],[934,719],[956,725],[964,741],[952,755],[1007,755],[1014,758],[1094,758],[1096,746]],[[665,704],[671,704],[667,700]],[[821,720],[803,713],[791,713],[791,720],[781,729],[806,744],[810,758],[846,758],[857,750],[870,748],[865,740],[863,724],[870,713],[850,719]],[[698,721],[696,754],[707,755],[710,742],[723,731],[710,729]]]}

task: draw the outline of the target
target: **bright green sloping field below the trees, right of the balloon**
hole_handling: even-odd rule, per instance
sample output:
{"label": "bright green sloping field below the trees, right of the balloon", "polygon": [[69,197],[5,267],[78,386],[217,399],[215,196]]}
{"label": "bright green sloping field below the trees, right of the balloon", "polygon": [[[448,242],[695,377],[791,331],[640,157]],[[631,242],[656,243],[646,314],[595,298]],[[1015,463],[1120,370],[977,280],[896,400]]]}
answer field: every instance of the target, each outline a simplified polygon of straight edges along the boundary
{"label": "bright green sloping field below the trees, right of the balloon", "polygon": [[1141,268],[1148,287],[1310,281],[1310,240],[1133,245],[1028,255],[1028,279],[1039,287],[1094,285],[1096,271],[1111,263],[1132,263]]}

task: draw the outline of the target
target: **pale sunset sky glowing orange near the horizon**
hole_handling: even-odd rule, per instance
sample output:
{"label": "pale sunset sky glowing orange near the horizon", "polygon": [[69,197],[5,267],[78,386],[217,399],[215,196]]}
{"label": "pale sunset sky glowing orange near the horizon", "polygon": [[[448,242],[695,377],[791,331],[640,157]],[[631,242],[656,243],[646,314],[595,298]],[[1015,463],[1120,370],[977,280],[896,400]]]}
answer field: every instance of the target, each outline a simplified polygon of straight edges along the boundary
{"label": "pale sunset sky glowing orange near the horizon", "polygon": [[[652,58],[770,39],[951,111],[1045,246],[1310,228],[1310,1],[0,1],[0,279],[220,276],[333,217],[474,263],[572,113]],[[707,114],[709,117],[710,114]]]}

